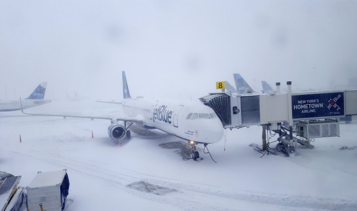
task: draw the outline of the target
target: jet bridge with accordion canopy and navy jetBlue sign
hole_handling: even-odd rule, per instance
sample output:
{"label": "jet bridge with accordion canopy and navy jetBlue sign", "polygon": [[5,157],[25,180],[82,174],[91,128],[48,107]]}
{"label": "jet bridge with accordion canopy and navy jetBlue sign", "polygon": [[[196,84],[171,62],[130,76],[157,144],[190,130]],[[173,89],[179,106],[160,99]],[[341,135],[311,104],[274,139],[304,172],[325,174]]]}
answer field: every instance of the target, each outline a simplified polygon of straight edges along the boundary
{"label": "jet bridge with accordion canopy and navy jetBlue sign", "polygon": [[288,93],[219,92],[200,100],[215,111],[224,128],[258,124],[278,133],[275,150],[288,155],[295,153],[297,143],[313,148],[314,138],[340,136],[338,119],[357,115],[357,90],[291,93],[291,82],[287,85]]}

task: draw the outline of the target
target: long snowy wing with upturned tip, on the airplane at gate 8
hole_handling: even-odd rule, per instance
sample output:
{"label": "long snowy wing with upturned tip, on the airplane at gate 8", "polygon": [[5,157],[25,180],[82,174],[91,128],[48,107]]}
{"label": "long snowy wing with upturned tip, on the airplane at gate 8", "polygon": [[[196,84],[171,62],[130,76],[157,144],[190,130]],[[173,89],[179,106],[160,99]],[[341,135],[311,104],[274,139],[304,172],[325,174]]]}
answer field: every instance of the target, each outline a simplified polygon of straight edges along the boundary
{"label": "long snowy wing with upturned tip, on the airplane at gate 8", "polygon": [[138,123],[138,124],[143,124],[143,120],[139,119],[139,118],[128,118],[128,117],[119,117],[119,118],[112,118],[112,117],[97,117],[97,116],[80,116],[80,115],[65,115],[65,114],[33,114],[33,113],[27,113],[24,112],[23,108],[22,108],[22,102],[21,102],[21,98],[20,98],[20,104],[21,104],[21,112],[27,115],[35,115],[35,116],[50,116],[50,117],[74,117],[74,118],[87,118],[87,119],[100,119],[100,120],[116,120],[116,121],[130,121],[130,122],[134,122],[134,123]]}

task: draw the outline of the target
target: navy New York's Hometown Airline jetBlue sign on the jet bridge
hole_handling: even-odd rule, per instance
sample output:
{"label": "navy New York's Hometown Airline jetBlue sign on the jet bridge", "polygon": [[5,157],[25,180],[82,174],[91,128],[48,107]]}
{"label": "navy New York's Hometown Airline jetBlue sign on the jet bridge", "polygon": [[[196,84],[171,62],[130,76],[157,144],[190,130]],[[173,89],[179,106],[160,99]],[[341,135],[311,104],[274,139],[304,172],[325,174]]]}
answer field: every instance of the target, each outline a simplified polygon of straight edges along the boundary
{"label": "navy New York's Hometown Airline jetBlue sign on the jet bridge", "polygon": [[292,119],[344,116],[343,92],[292,96]]}

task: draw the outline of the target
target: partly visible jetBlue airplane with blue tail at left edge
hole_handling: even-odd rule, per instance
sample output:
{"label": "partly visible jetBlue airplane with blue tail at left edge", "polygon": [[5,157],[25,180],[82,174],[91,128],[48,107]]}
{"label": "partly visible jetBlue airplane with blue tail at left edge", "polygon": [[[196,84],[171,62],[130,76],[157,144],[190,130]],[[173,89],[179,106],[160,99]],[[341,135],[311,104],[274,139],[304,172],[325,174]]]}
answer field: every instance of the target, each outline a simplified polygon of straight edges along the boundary
{"label": "partly visible jetBlue airplane with blue tail at left edge", "polygon": [[[35,90],[26,99],[22,100],[22,108],[31,108],[38,105],[50,103],[50,100],[44,100],[47,82],[40,83]],[[21,110],[20,101],[0,100],[0,111]]]}

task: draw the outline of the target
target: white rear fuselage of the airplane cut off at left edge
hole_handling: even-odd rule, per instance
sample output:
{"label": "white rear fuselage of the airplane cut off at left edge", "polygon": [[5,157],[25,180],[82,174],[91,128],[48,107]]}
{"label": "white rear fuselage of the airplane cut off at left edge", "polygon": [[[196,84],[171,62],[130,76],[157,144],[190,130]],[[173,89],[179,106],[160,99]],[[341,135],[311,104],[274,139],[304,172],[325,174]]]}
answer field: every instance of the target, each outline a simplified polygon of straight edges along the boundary
{"label": "white rear fuselage of the airplane cut off at left edge", "polygon": [[[22,107],[31,108],[37,105],[43,105],[50,103],[50,100],[37,100],[37,99],[23,99]],[[21,105],[19,100],[0,100],[0,111],[16,111],[21,110]]]}

